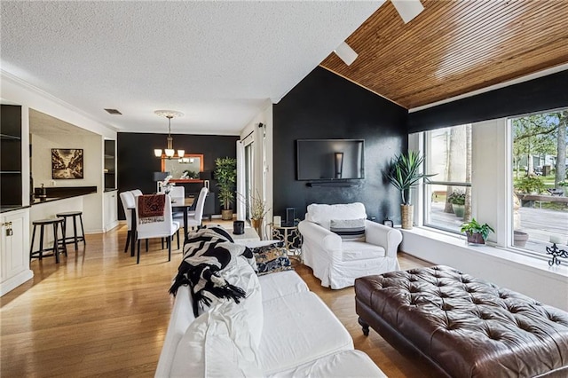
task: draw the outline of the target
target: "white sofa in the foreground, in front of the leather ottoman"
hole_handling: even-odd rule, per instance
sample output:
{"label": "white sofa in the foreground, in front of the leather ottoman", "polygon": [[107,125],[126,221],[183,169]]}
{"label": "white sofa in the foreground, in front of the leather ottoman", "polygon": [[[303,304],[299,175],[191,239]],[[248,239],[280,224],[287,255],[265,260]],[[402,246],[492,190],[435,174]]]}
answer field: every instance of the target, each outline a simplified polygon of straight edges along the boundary
{"label": "white sofa in the foreground, in front of the leather ottoman", "polygon": [[[386,377],[367,354],[353,349],[345,327],[296,272],[274,272],[258,281],[263,312],[258,324],[263,325],[257,374],[215,362],[217,353],[227,354],[221,347],[215,349],[215,340],[205,341],[205,356],[185,342],[185,331],[193,332],[196,318],[189,288],[183,286],[177,291],[155,376]],[[179,358],[180,349],[187,358]],[[200,358],[209,366],[196,369]]]}

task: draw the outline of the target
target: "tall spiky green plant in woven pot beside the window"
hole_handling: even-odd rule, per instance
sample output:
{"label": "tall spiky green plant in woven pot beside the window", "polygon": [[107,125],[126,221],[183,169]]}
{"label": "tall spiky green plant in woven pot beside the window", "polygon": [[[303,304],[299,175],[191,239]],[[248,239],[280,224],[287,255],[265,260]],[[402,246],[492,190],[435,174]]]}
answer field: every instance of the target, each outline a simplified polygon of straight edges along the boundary
{"label": "tall spiky green plant in woven pot beside the window", "polygon": [[390,184],[400,191],[401,223],[402,228],[412,229],[413,224],[413,205],[411,204],[411,191],[415,185],[420,183],[420,179],[428,179],[434,175],[421,173],[420,169],[424,158],[416,151],[408,151],[407,154],[399,154],[390,161],[386,177]]}

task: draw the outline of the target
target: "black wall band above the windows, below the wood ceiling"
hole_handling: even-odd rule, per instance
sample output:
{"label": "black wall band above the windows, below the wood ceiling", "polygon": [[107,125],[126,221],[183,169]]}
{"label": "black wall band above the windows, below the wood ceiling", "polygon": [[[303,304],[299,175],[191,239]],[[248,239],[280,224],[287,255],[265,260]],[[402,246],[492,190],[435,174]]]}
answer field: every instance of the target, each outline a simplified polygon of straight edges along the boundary
{"label": "black wall band above the windows, below the wood ceiling", "polygon": [[568,70],[408,115],[408,131],[434,130],[568,106]]}

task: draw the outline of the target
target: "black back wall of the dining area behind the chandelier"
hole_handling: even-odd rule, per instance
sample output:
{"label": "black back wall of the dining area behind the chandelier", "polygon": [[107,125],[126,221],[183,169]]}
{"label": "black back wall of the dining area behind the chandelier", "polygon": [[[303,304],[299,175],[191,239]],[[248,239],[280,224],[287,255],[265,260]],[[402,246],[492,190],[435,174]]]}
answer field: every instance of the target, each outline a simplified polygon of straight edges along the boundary
{"label": "black back wall of the dining area behind the chandelier", "polygon": [[[142,193],[154,193],[156,183],[153,173],[162,170],[161,159],[154,156],[154,148],[166,146],[166,134],[119,132],[117,134],[118,192],[140,189]],[[174,148],[184,148],[186,154],[203,154],[203,170],[214,171],[218,157],[236,157],[238,136],[172,134]],[[201,184],[186,186],[185,192],[199,193]],[[190,186],[191,186],[190,185]],[[215,214],[221,214],[217,200],[217,181],[210,181],[210,191],[215,193]],[[118,217],[124,219],[122,204]]]}

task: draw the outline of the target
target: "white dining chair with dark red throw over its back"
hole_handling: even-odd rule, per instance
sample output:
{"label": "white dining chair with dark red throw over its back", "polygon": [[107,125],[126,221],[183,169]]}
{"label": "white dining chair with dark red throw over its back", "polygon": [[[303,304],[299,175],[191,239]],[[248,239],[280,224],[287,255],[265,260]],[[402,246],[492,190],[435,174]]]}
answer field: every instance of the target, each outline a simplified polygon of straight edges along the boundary
{"label": "white dining chair with dark red throw over its back", "polygon": [[[145,197],[150,196],[165,196],[163,204],[163,218],[145,223],[140,219],[140,206],[142,202],[146,201]],[[138,196],[136,201],[136,219],[137,219],[137,241],[138,252],[136,256],[136,264],[140,263],[140,240],[149,238],[166,238],[168,244],[168,261],[171,260],[171,237],[177,234],[177,241],[179,242],[179,224],[174,222],[171,213],[171,197],[169,194],[146,194]]]}

